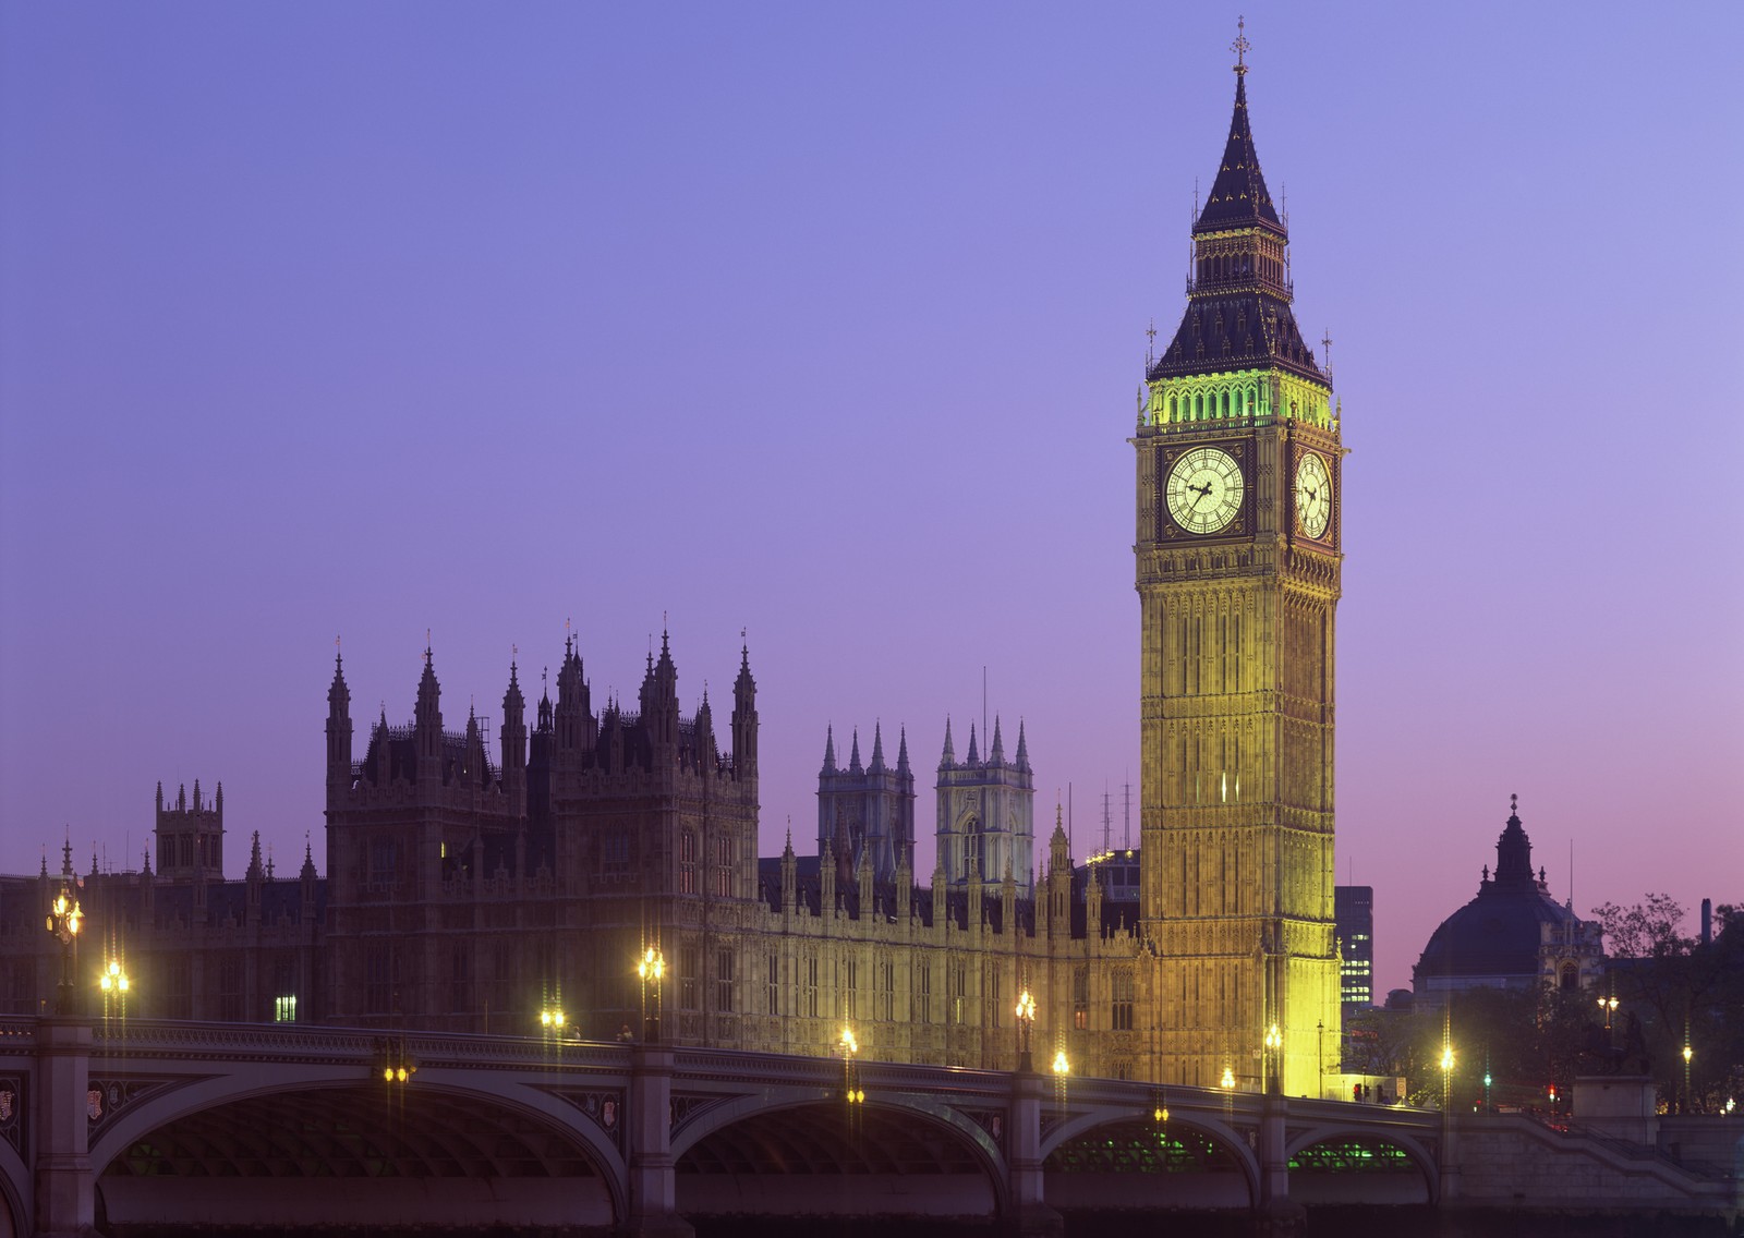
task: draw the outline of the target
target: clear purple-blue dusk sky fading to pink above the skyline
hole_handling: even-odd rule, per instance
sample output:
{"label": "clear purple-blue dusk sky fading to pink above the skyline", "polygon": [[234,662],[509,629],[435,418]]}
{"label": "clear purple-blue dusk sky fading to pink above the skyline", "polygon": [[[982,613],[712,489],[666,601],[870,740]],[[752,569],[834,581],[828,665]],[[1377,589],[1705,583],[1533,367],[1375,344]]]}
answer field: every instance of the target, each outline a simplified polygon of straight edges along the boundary
{"label": "clear purple-blue dusk sky fading to pink above the skyline", "polygon": [[[1381,989],[1493,863],[1744,898],[1744,7],[1243,0],[1345,401],[1339,881]],[[762,846],[823,731],[1137,778],[1134,396],[1230,120],[1216,5],[0,7],[0,870],[356,713],[499,722],[574,617],[750,633]],[[1137,837],[1137,809],[1134,809]],[[319,854],[319,846],[317,846]]]}

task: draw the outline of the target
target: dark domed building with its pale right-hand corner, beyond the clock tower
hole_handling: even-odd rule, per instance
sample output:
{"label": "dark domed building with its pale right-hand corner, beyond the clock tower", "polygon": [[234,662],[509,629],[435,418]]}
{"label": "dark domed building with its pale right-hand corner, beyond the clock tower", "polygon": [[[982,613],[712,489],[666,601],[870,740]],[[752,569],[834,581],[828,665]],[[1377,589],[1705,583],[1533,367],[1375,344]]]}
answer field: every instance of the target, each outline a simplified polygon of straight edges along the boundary
{"label": "dark domed building with its pale right-hand corner, beyond the clock tower", "polygon": [[1441,922],[1411,969],[1420,1010],[1465,989],[1584,989],[1604,969],[1599,924],[1550,898],[1543,870],[1531,870],[1517,795],[1509,809],[1495,875],[1486,865],[1477,898]]}

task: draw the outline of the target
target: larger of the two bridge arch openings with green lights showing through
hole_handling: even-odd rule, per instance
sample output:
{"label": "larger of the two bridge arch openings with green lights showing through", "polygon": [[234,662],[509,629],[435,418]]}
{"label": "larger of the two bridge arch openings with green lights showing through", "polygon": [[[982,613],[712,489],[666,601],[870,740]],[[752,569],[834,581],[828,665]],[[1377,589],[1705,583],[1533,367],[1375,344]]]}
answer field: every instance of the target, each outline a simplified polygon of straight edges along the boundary
{"label": "larger of the two bridge arch openings with green lights showing through", "polygon": [[1092,1109],[1048,1130],[1041,1158],[1043,1198],[1057,1208],[1247,1208],[1259,1198],[1254,1151],[1212,1114],[1160,1125],[1148,1109]]}

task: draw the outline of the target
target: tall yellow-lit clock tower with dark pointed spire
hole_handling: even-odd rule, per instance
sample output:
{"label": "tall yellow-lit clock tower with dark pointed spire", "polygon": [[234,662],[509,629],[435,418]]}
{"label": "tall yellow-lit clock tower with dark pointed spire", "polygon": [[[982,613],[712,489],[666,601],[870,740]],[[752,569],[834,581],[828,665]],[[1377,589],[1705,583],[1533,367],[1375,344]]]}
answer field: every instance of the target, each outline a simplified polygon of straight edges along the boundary
{"label": "tall yellow-lit clock tower with dark pointed spire", "polygon": [[1254,153],[1247,40],[1193,225],[1188,307],[1141,396],[1144,933],[1165,1081],[1320,1095],[1338,1053],[1331,380],[1291,312]]}

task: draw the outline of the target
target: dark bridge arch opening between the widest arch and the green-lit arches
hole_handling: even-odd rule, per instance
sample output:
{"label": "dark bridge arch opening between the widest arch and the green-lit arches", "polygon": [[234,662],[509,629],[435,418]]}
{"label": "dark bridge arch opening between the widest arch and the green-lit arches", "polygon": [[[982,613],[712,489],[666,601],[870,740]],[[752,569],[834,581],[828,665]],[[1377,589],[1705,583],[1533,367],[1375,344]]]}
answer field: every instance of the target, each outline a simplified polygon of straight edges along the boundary
{"label": "dark bridge arch opening between the widest arch and the green-lit arches", "polygon": [[[947,1104],[874,1093],[849,1105],[814,1086],[734,1097],[673,1133],[678,1214],[1008,1215],[994,1137]],[[781,1191],[769,1191],[780,1177]],[[844,1189],[846,1187],[846,1189]]]}

